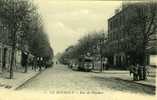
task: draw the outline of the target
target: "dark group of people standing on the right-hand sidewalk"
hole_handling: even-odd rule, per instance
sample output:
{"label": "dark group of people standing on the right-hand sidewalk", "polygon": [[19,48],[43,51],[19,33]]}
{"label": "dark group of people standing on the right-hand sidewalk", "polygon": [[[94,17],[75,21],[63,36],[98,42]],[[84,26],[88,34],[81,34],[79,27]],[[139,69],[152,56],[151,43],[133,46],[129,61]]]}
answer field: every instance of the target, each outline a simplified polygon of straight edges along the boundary
{"label": "dark group of people standing on the right-hand sidewalk", "polygon": [[146,68],[139,64],[133,64],[130,66],[130,75],[133,74],[133,80],[145,80],[146,78]]}

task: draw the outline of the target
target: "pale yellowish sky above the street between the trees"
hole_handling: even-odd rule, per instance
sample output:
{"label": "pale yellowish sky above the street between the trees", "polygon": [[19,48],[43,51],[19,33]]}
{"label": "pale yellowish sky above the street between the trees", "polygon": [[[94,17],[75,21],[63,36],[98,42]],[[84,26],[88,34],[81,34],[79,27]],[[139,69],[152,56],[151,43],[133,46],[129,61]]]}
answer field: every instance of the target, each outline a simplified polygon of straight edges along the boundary
{"label": "pale yellowish sky above the street between the trees", "polygon": [[120,1],[34,0],[42,16],[54,54],[63,52],[86,34],[107,31],[107,20]]}

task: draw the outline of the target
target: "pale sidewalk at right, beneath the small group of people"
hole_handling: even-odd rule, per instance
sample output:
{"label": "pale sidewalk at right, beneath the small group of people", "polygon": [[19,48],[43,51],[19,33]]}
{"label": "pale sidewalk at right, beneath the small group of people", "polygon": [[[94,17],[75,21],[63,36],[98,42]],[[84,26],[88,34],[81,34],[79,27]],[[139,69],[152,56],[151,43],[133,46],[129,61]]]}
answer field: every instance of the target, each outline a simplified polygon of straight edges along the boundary
{"label": "pale sidewalk at right, beneath the small group of people", "polygon": [[134,82],[137,84],[142,84],[146,86],[151,86],[151,87],[156,87],[156,73],[151,73],[153,74],[154,77],[147,77],[147,80],[141,80],[141,81],[133,81],[133,76],[130,76],[129,71],[103,71],[102,73],[108,74],[108,76],[111,76],[116,79],[124,80],[124,81],[129,81],[129,82]]}

